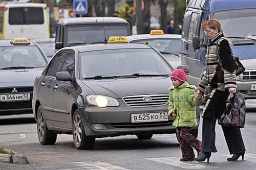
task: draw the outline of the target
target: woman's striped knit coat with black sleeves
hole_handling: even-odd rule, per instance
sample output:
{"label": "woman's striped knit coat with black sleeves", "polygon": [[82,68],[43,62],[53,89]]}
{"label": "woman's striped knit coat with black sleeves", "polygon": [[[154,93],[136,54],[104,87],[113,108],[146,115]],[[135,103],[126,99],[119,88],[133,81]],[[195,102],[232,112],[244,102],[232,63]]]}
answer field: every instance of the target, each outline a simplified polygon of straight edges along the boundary
{"label": "woman's striped knit coat with black sleeves", "polygon": [[[218,66],[217,47],[219,47],[219,54],[224,67],[224,74],[220,75],[220,77],[222,77],[221,79],[216,74]],[[236,72],[234,70],[230,47],[228,41],[223,37],[221,32],[214,36],[207,45],[207,53],[205,57],[206,74],[198,86],[198,89],[204,93],[204,109],[202,115],[204,115],[216,90],[225,91],[225,89],[230,87],[237,88]]]}

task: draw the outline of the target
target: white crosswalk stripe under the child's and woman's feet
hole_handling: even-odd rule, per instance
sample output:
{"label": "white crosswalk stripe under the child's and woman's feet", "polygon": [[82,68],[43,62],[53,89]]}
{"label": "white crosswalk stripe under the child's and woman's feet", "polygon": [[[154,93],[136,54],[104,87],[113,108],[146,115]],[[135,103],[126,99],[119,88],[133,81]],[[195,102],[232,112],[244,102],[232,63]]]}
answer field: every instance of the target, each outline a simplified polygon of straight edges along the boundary
{"label": "white crosswalk stripe under the child's and woman's feet", "polygon": [[162,157],[162,158],[146,158],[147,160],[152,160],[160,163],[165,163],[168,165],[173,165],[177,167],[182,167],[185,169],[210,169],[210,168],[218,168],[216,166],[212,166],[210,163],[206,162],[197,162],[197,161],[187,161],[182,162],[178,157]]}

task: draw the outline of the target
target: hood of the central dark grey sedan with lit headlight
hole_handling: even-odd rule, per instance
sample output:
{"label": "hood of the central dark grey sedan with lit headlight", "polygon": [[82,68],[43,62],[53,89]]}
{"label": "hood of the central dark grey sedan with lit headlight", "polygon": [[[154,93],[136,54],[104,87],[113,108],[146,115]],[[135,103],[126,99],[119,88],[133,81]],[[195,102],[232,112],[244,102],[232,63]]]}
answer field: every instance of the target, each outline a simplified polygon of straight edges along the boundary
{"label": "hood of the central dark grey sedan with lit headlight", "polygon": [[82,83],[91,88],[95,94],[112,96],[115,99],[127,95],[168,94],[168,88],[172,86],[169,77],[84,80]]}

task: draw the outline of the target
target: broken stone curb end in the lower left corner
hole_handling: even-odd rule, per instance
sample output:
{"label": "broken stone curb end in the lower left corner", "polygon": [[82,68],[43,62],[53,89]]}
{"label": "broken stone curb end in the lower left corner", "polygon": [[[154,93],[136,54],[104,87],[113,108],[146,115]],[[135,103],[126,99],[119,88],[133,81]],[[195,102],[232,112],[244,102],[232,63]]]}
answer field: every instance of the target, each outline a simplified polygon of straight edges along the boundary
{"label": "broken stone curb end in the lower left corner", "polygon": [[[15,153],[15,152],[12,151],[12,153]],[[17,153],[15,153],[14,155],[0,154],[0,162],[15,163],[15,164],[28,164],[29,163],[28,158],[26,156],[19,155]]]}

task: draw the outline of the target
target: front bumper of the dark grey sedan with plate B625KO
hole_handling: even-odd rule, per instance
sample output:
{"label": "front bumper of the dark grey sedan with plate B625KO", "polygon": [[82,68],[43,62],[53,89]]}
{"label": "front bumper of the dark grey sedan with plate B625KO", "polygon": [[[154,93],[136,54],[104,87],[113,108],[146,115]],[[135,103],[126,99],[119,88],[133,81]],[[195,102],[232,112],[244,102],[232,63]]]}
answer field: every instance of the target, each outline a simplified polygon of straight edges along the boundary
{"label": "front bumper of the dark grey sedan with plate B625KO", "polygon": [[173,126],[174,120],[171,116],[168,116],[168,121],[164,122],[132,123],[131,120],[131,114],[167,112],[167,105],[157,107],[129,107],[122,103],[118,107],[99,108],[89,106],[87,108],[79,108],[79,111],[87,136],[108,137],[141,133],[176,133],[176,127]]}

